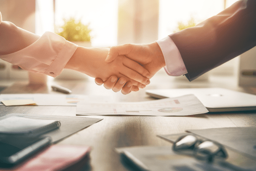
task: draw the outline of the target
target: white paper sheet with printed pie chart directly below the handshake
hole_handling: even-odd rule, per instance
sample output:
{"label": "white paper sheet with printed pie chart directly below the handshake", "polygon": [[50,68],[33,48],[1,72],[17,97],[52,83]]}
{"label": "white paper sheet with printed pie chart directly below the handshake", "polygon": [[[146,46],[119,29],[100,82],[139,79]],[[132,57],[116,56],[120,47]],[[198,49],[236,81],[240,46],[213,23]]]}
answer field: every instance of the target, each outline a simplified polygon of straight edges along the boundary
{"label": "white paper sheet with printed pie chart directly below the handshake", "polygon": [[143,102],[77,103],[77,115],[186,116],[207,112],[208,110],[193,94]]}

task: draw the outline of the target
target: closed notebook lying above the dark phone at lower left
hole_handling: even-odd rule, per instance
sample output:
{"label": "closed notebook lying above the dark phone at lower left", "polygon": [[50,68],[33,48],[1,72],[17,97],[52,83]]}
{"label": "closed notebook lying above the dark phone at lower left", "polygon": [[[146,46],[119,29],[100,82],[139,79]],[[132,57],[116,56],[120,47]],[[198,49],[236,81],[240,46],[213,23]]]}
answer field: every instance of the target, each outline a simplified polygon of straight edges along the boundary
{"label": "closed notebook lying above the dark phone at lower left", "polygon": [[60,127],[60,121],[11,116],[0,118],[0,136],[38,136]]}

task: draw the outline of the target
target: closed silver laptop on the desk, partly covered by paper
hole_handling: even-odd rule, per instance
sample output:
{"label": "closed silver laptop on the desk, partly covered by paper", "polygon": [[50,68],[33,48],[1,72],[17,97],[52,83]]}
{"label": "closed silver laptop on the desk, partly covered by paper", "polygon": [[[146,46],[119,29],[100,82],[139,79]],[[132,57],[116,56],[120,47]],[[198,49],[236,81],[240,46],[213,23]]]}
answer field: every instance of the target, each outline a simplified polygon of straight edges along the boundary
{"label": "closed silver laptop on the desk, partly covered by paper", "polygon": [[256,110],[256,95],[223,88],[151,89],[146,94],[154,98],[194,94],[209,112]]}

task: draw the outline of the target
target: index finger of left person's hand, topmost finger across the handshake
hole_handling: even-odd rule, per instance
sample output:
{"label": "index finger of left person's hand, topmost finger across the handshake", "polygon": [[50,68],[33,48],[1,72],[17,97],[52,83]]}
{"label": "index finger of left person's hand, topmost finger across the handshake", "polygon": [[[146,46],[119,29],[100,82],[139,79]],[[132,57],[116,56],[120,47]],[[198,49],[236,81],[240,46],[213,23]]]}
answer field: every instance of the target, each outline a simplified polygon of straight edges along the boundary
{"label": "index finger of left person's hand, topmost finger across the handshake", "polygon": [[141,74],[144,77],[150,78],[150,74],[148,70],[146,70],[143,66],[141,66],[139,63],[127,58],[122,58],[124,66],[127,66],[128,68],[136,71],[137,73]]}

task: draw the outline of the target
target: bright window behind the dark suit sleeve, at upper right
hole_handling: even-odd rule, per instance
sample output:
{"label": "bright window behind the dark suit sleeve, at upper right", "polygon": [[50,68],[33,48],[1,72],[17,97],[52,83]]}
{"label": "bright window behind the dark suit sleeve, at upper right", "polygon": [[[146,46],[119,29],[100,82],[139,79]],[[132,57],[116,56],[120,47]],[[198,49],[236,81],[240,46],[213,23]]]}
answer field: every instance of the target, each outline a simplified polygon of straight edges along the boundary
{"label": "bright window behind the dark suit sleeve, at upper right", "polygon": [[159,0],[158,39],[177,31],[178,22],[193,18],[198,24],[230,7],[237,0]]}

